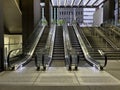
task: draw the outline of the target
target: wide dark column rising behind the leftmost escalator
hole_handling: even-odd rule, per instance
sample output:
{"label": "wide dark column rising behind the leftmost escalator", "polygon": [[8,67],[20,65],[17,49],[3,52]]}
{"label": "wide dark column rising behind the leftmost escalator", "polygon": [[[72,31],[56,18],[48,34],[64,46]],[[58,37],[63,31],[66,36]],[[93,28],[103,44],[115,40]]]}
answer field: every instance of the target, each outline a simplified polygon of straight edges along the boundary
{"label": "wide dark column rising behind the leftmost escalator", "polygon": [[21,11],[24,44],[41,18],[40,0],[21,0]]}

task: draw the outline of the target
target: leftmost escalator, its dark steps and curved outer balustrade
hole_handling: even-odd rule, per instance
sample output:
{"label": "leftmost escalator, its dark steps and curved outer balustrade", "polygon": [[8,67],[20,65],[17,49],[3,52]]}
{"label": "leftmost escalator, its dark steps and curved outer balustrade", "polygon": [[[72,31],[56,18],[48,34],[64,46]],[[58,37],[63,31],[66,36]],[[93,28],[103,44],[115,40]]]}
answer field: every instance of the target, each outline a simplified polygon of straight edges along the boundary
{"label": "leftmost escalator, its dark steps and curved outer balustrade", "polygon": [[[33,31],[31,36],[28,38],[28,41],[24,44],[24,51],[20,56],[13,56],[13,52],[16,52],[19,49],[12,50],[9,52],[7,57],[7,70],[16,70],[21,66],[35,66],[34,65],[34,55],[41,51],[41,48],[45,46],[47,41],[47,36],[49,29],[46,26],[40,28],[39,26]],[[26,65],[27,64],[27,65]]]}

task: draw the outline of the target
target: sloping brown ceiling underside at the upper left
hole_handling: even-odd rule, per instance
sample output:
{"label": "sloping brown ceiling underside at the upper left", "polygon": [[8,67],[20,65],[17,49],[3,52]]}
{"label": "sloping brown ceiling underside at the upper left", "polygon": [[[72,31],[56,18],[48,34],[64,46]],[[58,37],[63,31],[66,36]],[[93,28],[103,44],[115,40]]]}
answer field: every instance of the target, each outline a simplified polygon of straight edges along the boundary
{"label": "sloping brown ceiling underside at the upper left", "polygon": [[22,32],[22,13],[16,0],[3,0],[5,28],[9,33]]}

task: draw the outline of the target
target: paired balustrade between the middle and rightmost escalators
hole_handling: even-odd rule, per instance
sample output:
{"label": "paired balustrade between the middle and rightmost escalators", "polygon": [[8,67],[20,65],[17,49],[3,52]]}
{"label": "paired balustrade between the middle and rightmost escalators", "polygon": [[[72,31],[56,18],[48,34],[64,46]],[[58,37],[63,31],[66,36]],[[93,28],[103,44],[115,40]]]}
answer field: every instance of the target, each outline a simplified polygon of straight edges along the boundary
{"label": "paired balustrade between the middle and rightmost escalators", "polygon": [[78,69],[77,53],[71,45],[70,36],[66,24],[63,26],[63,39],[66,66],[68,67],[68,70],[72,70],[72,66],[74,66],[74,70],[77,70]]}

